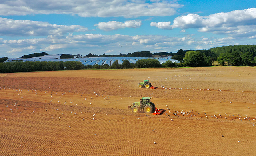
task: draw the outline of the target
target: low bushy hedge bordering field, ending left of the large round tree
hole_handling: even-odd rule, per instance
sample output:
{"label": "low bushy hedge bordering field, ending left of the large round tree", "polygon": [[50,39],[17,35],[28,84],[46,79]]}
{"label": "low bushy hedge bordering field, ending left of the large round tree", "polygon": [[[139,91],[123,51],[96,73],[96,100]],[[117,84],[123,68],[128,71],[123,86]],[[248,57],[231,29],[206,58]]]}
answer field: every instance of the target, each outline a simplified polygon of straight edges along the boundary
{"label": "low bushy hedge bordering field, ending left of the large round tree", "polygon": [[78,61],[13,61],[0,63],[0,73],[30,72],[30,71],[56,71],[56,70],[80,70],[80,69],[130,69],[130,68],[156,68],[156,67],[182,67],[182,63],[172,63],[168,60],[162,65],[157,59],[140,59],[136,63],[124,60],[122,64],[118,60],[111,66],[104,65],[83,65]]}

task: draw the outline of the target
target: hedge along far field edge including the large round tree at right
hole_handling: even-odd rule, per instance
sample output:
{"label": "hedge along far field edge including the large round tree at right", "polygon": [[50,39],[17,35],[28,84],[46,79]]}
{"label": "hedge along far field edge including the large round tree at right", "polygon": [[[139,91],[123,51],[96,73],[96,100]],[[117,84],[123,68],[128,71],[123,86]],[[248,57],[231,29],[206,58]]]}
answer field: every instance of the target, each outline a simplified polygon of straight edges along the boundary
{"label": "hedge along far field edge including the large round tree at right", "polygon": [[13,61],[0,63],[0,73],[30,72],[30,71],[55,71],[55,70],[79,70],[79,69],[127,69],[127,68],[158,68],[158,67],[183,67],[183,66],[207,66],[212,65],[210,57],[206,57],[200,51],[188,51],[185,54],[183,63],[173,63],[168,60],[163,64],[157,59],[140,59],[136,63],[124,60],[119,64],[114,61],[111,66],[104,65],[83,65],[78,61]]}

